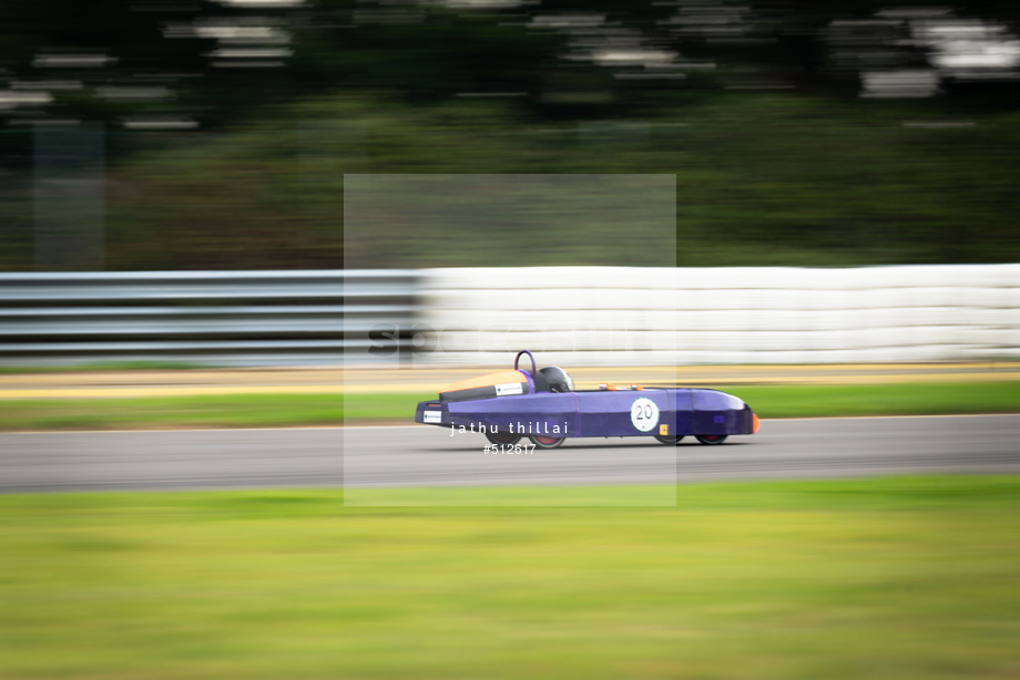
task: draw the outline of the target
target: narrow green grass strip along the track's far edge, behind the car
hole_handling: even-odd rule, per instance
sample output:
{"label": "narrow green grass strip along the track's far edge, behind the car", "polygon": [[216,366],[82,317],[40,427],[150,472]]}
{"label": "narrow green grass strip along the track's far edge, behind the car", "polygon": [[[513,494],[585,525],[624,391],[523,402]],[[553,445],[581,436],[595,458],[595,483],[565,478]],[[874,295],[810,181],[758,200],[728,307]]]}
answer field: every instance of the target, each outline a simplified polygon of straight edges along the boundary
{"label": "narrow green grass strip along the track's far edge, behind the car", "polygon": [[[1018,382],[728,385],[762,418],[1018,413]],[[257,427],[411,422],[435,394],[230,394],[144,399],[4,400],[0,430]]]}

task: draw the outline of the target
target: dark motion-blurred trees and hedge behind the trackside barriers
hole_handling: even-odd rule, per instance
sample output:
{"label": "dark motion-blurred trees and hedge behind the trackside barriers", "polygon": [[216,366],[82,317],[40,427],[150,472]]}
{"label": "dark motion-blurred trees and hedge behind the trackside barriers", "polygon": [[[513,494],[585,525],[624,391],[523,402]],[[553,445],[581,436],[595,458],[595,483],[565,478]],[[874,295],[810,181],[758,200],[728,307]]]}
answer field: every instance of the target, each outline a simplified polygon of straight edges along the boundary
{"label": "dark motion-blurred trees and hedge behind the trackside barriers", "polygon": [[[1008,55],[1020,7],[931,11],[6,0],[0,268],[39,267],[38,150],[68,130],[103,135],[57,172],[102,164],[109,269],[339,267],[350,173],[676,175],[675,253],[620,247],[662,243],[650,225],[588,233],[564,210],[557,248],[480,217],[500,247],[459,251],[397,221],[358,234],[353,266],[1016,261],[1017,69],[939,70],[917,27],[994,22]],[[896,78],[868,91],[865,72]],[[918,73],[930,91],[889,89]]]}

